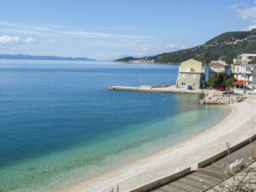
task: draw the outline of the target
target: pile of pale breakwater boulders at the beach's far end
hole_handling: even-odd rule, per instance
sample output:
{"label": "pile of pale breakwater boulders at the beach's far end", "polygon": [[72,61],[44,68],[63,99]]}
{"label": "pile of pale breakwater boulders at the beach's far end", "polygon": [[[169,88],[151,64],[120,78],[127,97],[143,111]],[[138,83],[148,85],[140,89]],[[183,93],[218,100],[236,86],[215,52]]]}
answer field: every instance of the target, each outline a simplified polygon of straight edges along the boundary
{"label": "pile of pale breakwater boulders at the beach's far end", "polygon": [[220,91],[209,92],[202,100],[198,101],[199,104],[206,105],[228,105],[236,102],[241,102],[243,100],[242,96],[236,95],[225,95]]}

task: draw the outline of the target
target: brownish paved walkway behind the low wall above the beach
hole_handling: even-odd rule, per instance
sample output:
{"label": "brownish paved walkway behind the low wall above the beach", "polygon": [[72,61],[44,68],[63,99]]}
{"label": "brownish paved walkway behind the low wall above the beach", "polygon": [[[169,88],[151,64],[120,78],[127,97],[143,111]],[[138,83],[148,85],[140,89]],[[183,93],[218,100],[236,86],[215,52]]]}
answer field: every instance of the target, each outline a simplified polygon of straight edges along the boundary
{"label": "brownish paved walkway behind the low wall above the beach", "polygon": [[[231,153],[230,164],[236,160],[243,159],[242,163],[248,166],[253,162],[251,156],[252,152],[256,155],[256,141],[253,141],[253,151],[251,145],[245,145]],[[169,184],[164,184],[157,189],[151,191],[154,192],[197,192],[207,191],[210,186],[220,183],[221,180],[227,178],[225,169],[227,167],[228,157],[221,157],[219,160],[206,167],[198,168],[196,171],[187,174],[186,176],[179,178]]]}

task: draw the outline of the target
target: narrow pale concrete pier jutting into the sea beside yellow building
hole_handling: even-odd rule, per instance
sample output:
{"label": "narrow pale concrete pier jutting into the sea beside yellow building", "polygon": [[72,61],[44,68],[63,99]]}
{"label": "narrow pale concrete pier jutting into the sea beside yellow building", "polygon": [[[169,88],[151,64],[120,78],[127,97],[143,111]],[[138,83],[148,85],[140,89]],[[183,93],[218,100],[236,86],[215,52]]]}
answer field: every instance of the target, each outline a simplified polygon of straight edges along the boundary
{"label": "narrow pale concrete pier jutting into the sea beside yellow building", "polygon": [[136,86],[109,86],[109,90],[114,91],[146,91],[146,92],[161,92],[161,93],[191,93],[204,94],[207,90],[187,90],[185,88],[176,88],[175,85],[140,85]]}

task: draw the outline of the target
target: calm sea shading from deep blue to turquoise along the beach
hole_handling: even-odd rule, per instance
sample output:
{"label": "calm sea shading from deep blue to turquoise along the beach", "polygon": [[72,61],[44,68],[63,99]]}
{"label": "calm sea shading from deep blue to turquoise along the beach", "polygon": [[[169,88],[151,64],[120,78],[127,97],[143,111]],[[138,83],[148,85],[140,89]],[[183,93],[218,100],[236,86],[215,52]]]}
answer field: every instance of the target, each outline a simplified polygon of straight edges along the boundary
{"label": "calm sea shading from deep blue to turquoise along the beach", "polygon": [[109,91],[175,84],[177,66],[0,62],[0,191],[55,191],[209,129],[230,112],[198,95]]}

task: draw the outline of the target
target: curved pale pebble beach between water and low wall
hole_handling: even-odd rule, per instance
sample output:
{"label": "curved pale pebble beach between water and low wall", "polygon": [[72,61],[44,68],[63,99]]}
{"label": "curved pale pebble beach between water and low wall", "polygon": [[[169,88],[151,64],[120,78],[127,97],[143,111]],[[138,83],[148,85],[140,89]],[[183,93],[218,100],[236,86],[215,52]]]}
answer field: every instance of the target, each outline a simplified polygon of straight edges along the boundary
{"label": "curved pale pebble beach between water and low wall", "polygon": [[[159,178],[177,173],[186,167],[197,168],[197,163],[225,150],[225,143],[232,145],[246,140],[251,133],[250,121],[256,116],[252,99],[232,104],[230,114],[220,123],[201,134],[193,136],[153,156],[114,170],[112,173],[92,178],[75,186],[72,191],[109,191],[119,185],[120,191],[130,191]],[[252,134],[251,134],[252,135]]]}

